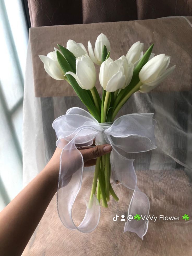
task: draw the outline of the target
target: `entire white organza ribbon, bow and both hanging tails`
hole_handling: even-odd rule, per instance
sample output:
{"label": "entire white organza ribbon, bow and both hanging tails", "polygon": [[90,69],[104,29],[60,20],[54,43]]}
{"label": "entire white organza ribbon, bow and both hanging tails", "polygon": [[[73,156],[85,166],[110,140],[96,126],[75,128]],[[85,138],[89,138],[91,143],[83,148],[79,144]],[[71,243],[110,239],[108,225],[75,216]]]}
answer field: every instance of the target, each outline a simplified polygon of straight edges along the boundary
{"label": "entire white organza ribbon, bow and both hanging tails", "polygon": [[[83,174],[83,157],[77,147],[92,145],[94,139],[97,144],[111,144],[112,169],[125,187],[134,190],[128,216],[135,214],[148,216],[149,200],[137,187],[134,159],[126,158],[122,152],[137,153],[157,147],[154,136],[156,121],[153,115],[153,113],[124,115],[117,118],[113,124],[106,126],[98,123],[87,111],[81,108],[70,108],[66,115],[58,117],[53,122],[58,138],[56,145],[63,148],[60,158],[57,209],[65,227],[88,233],[93,231],[99,223],[100,206],[95,196],[92,199],[92,208],[88,208],[88,200],[85,200],[86,214],[78,227],[71,214],[72,206],[81,189]],[[147,228],[148,222],[145,220],[128,220],[125,223],[124,232],[135,232],[143,239]]]}

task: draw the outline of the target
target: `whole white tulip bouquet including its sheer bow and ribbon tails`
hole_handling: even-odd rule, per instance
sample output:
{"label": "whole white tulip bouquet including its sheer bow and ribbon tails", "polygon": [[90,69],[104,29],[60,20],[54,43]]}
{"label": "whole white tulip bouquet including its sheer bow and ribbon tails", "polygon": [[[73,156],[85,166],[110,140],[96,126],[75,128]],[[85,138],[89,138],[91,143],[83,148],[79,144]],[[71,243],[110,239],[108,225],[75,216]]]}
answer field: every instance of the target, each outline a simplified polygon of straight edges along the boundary
{"label": "whole white tulip bouquet including its sheer bow and ribbon tails", "polygon": [[[64,197],[67,192],[65,187],[72,189],[70,183],[75,184],[67,205],[62,207],[58,204],[61,221],[66,227],[82,232],[90,232],[97,226],[100,205],[108,207],[110,195],[114,200],[119,200],[110,182],[112,169],[124,186],[134,190],[128,215],[136,214],[138,202],[140,202],[140,212],[148,215],[149,200],[137,187],[134,160],[123,157],[119,149],[133,153],[156,148],[153,114],[130,114],[119,117],[115,121],[114,119],[133,93],[151,91],[174,70],[175,66],[167,68],[170,56],[165,54],[154,56],[153,45],[143,54],[143,43],[138,41],[130,47],[126,56],[123,55],[114,61],[110,58],[110,42],[102,33],[97,37],[94,50],[91,42],[88,41],[88,52],[83,44],[73,40],[67,42],[67,47],[61,45],[58,47],[59,49],[54,48],[55,51],[48,53],[47,56],[39,56],[44,63],[45,71],[53,79],[66,80],[90,114],[80,108],[71,108],[66,115],[57,118],[53,122],[53,128],[58,137],[57,146],[63,148],[62,154],[65,156],[68,154],[69,157],[72,151],[77,150],[78,145],[91,145],[94,139],[95,144],[109,143],[113,148],[112,156],[106,154],[97,158],[86,215],[78,227],[71,216],[73,205],[71,201],[75,200],[81,187],[78,179],[82,179],[83,160],[80,157],[78,167],[71,167],[71,169],[74,168],[71,171],[71,177],[74,176],[74,171],[76,175],[74,181],[71,178],[70,182],[65,183],[66,167],[62,165],[61,156],[58,202],[59,198]],[[94,64],[100,65],[99,81],[103,87],[101,98],[95,87],[97,76]],[[68,144],[64,144],[63,141],[67,141]],[[60,194],[59,188],[62,191]],[[128,221],[125,223],[124,232],[130,230],[143,239],[147,227],[148,223],[142,220]]]}

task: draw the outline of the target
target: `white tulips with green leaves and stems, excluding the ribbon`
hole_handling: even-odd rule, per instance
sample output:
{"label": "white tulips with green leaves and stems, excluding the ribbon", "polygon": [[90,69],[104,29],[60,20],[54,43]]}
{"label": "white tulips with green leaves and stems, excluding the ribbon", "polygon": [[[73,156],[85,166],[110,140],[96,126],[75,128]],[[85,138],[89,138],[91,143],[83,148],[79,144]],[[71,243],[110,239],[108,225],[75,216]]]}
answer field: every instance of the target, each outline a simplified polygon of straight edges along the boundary
{"label": "white tulips with green leaves and stems, excluding the ribbon", "polygon": [[[47,56],[39,56],[45,71],[53,79],[66,80],[101,124],[113,123],[133,93],[151,91],[175,68],[167,69],[170,56],[160,54],[154,57],[153,45],[143,54],[144,46],[140,41],[134,43],[125,56],[114,61],[110,58],[110,42],[104,34],[97,37],[94,50],[88,41],[88,52],[83,44],[73,40],[67,42],[67,47],[58,47]],[[102,97],[95,87],[97,75],[94,64],[100,65]],[[110,195],[119,200],[111,186],[110,175],[110,154],[98,157],[90,199],[95,195],[99,203],[102,200],[104,207],[108,207]]]}

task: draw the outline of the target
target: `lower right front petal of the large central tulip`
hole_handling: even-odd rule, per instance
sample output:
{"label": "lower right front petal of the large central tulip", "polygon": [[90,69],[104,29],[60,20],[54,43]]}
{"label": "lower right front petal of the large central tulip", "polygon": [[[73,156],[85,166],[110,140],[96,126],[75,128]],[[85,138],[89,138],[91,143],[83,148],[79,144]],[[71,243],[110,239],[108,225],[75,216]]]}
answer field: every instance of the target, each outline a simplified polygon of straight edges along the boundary
{"label": "lower right front petal of the large central tulip", "polygon": [[106,86],[107,92],[115,92],[116,90],[122,88],[125,84],[125,75],[122,72],[117,72],[112,78],[109,80]]}

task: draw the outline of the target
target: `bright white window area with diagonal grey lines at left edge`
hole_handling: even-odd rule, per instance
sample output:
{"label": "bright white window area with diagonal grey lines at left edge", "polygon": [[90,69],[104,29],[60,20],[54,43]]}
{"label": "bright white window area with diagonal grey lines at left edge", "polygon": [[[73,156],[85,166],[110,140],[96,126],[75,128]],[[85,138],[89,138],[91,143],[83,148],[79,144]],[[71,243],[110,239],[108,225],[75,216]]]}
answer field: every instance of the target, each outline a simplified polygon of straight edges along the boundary
{"label": "bright white window area with diagonal grey lines at left edge", "polygon": [[22,107],[28,30],[21,0],[0,0],[0,210],[22,189]]}

